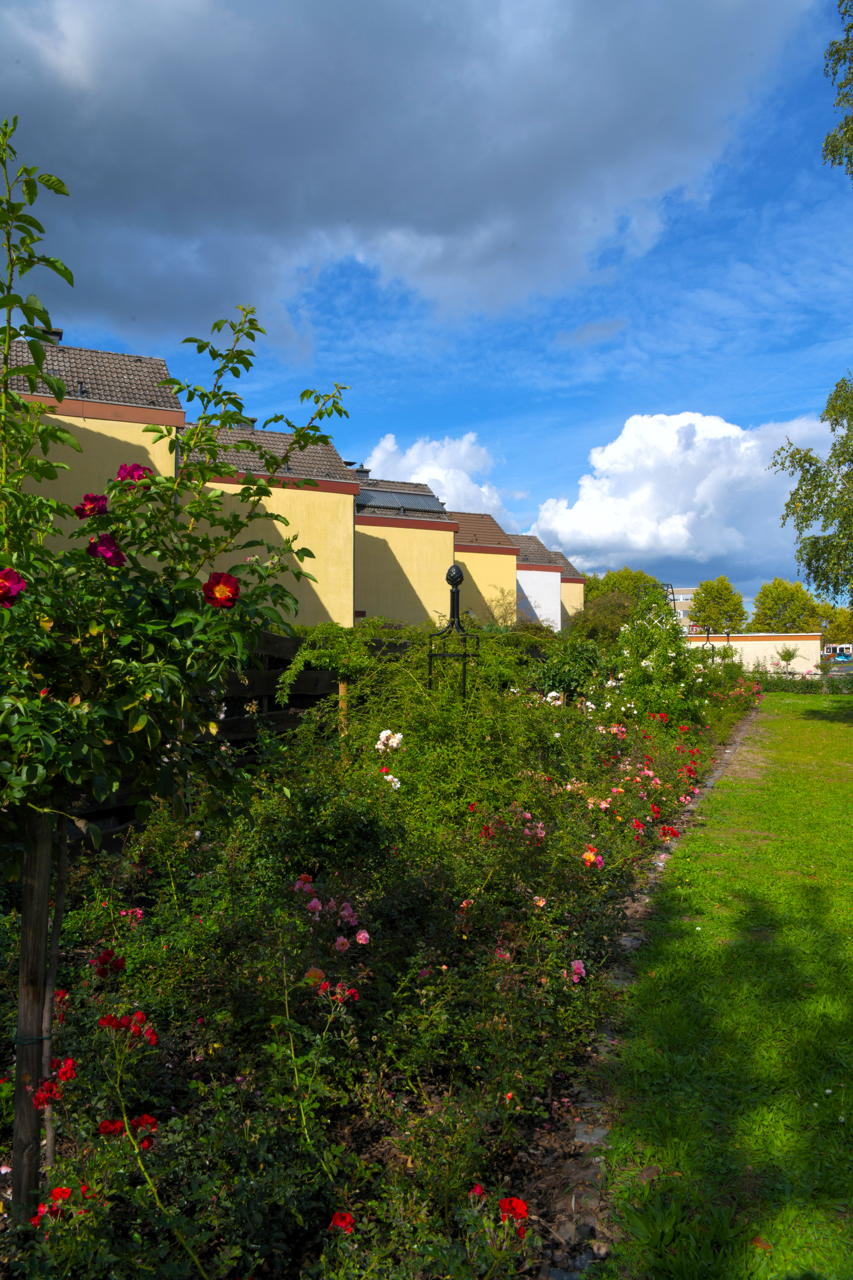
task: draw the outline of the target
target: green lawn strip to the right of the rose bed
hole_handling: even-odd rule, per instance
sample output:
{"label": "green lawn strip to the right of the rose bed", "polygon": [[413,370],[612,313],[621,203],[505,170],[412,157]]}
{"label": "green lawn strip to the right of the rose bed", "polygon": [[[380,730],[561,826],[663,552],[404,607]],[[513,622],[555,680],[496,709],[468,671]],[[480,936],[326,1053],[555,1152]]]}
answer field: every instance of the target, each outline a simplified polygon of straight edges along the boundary
{"label": "green lawn strip to the right of the rose bed", "polygon": [[853,698],[770,695],[622,996],[605,1275],[853,1277],[852,814]]}

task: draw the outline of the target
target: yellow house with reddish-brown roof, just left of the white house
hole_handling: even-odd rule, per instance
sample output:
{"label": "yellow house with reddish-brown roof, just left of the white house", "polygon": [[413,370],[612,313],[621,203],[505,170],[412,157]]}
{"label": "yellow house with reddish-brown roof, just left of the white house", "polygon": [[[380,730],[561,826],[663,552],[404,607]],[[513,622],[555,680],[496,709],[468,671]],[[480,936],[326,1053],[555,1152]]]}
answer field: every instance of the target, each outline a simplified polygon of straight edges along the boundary
{"label": "yellow house with reddish-brown roof, just left of the white house", "polygon": [[460,608],[480,622],[512,626],[516,620],[516,559],[519,547],[503,532],[494,516],[450,511],[459,526],[456,563],[465,573]]}

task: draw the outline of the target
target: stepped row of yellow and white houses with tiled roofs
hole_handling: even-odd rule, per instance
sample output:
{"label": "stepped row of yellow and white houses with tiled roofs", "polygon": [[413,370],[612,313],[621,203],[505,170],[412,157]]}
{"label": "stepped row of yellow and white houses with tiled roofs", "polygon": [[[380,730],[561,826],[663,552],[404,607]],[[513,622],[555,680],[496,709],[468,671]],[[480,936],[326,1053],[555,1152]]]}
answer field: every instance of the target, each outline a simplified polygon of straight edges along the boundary
{"label": "stepped row of yellow and white houses with tiled roofs", "polygon": [[[29,362],[26,343],[14,344],[13,361]],[[55,461],[68,467],[51,481],[61,502],[74,506],[85,493],[101,493],[123,463],[174,474],[191,424],[178,398],[161,385],[169,376],[165,361],[60,340],[46,348],[45,367],[65,384],[61,403],[46,388],[32,394],[22,378],[13,387],[45,404],[81,445],[81,452],[56,451]],[[146,431],[149,425],[174,428],[178,452]],[[223,435],[223,462],[270,484],[261,507],[269,518],[256,522],[251,535],[280,549],[292,568],[301,563],[305,575],[286,580],[298,622],[352,626],[380,616],[437,626],[447,617],[446,573],[453,563],[465,575],[461,608],[480,622],[512,625],[528,617],[558,631],[583,608],[583,576],[538,538],[508,535],[485,513],[448,512],[429,485],[374,479],[368,468],[345,462],[332,444],[292,451],[292,443],[288,433],[233,428]],[[270,472],[265,454],[280,457],[282,466]],[[227,503],[241,500],[234,476],[214,477],[213,486]],[[310,557],[300,562],[291,541],[307,548]],[[214,567],[233,566],[233,556],[225,554]]]}

